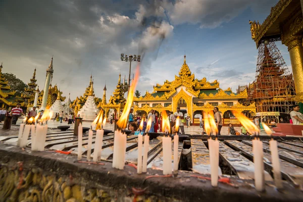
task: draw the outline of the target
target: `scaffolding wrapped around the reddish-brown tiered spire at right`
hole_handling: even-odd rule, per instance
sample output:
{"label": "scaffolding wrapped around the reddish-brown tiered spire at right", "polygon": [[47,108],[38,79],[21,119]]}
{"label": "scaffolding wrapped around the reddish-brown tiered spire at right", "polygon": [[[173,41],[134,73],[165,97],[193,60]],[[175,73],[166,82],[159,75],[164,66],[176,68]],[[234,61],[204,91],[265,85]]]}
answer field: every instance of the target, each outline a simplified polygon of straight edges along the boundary
{"label": "scaffolding wrapped around the reddish-brown tiered spire at right", "polygon": [[256,103],[257,112],[288,114],[295,104],[293,77],[275,42],[260,45],[256,79],[247,92],[249,102]]}

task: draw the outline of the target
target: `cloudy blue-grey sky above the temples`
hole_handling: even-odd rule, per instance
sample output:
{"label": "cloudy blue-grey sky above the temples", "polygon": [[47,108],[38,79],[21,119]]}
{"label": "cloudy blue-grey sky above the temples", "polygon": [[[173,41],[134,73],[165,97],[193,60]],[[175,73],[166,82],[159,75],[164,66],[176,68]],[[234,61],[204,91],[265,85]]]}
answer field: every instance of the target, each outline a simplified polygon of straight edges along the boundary
{"label": "cloudy blue-grey sky above the temples", "polygon": [[[137,89],[173,80],[183,64],[196,78],[218,79],[223,89],[255,78],[258,51],[248,20],[263,22],[277,0],[29,0],[0,2],[0,62],[29,82],[37,68],[40,89],[54,55],[53,85],[71,99],[90,74],[96,96],[107,98],[118,75],[128,75],[120,54],[142,54]],[[288,67],[286,46],[277,42]],[[132,65],[132,71],[135,69]],[[126,76],[128,77],[128,76]]]}

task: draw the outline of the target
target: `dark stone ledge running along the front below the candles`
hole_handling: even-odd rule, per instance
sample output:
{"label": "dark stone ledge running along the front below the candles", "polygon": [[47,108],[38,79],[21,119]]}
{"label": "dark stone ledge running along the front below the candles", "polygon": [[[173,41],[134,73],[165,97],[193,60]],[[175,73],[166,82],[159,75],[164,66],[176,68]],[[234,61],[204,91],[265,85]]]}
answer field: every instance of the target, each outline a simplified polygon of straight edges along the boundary
{"label": "dark stone ledge running along the front below the candles", "polygon": [[[191,172],[179,171],[178,177],[150,178],[147,175],[162,175],[162,170],[148,169],[148,174],[138,175],[133,167],[125,166],[124,170],[112,168],[111,162],[102,162],[106,165],[93,165],[74,163],[76,156],[63,155],[54,151],[30,151],[21,148],[1,144],[1,165],[17,166],[17,162],[23,162],[25,170],[39,168],[43,173],[52,173],[57,178],[71,178],[75,184],[85,188],[108,187],[114,192],[129,193],[129,189],[147,188],[147,195],[165,197],[166,200],[180,201],[302,201],[303,194],[288,183],[284,183],[283,192],[278,192],[271,183],[267,183],[265,192],[257,192],[252,180],[240,180],[231,178],[231,183],[239,188],[219,183],[217,188],[211,186],[210,181],[199,180]],[[83,158],[84,161],[84,158]],[[198,174],[197,174],[198,175]],[[70,177],[71,176],[71,177]],[[252,185],[252,186],[251,186]],[[120,190],[120,191],[118,191]]]}

